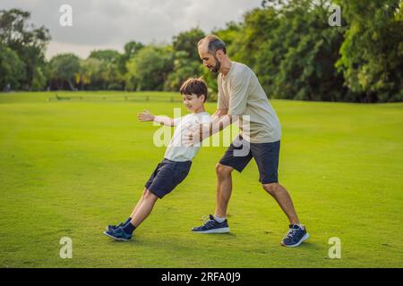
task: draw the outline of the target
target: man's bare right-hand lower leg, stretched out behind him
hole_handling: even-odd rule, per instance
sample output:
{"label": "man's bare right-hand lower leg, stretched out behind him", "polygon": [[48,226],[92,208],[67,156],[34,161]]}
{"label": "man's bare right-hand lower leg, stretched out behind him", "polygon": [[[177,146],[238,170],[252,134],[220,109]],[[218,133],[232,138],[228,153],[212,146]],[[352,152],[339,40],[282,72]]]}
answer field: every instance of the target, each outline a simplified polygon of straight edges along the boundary
{"label": "man's bare right-hand lower leg, stretched out behind him", "polygon": [[296,209],[287,189],[281,186],[278,182],[263,184],[262,186],[264,190],[276,199],[283,212],[287,215],[289,223],[299,224]]}

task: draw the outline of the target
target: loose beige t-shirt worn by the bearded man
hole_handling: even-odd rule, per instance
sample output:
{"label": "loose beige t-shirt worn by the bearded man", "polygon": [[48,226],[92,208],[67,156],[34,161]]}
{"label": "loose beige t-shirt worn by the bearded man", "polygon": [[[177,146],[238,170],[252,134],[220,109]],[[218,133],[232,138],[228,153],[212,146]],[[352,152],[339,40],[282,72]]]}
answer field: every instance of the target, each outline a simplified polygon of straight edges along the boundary
{"label": "loose beige t-shirt worn by the bearded man", "polygon": [[232,62],[226,76],[219,73],[218,82],[218,109],[228,109],[228,114],[241,116],[239,128],[244,139],[251,143],[279,141],[279,117],[270,105],[256,75],[248,66]]}

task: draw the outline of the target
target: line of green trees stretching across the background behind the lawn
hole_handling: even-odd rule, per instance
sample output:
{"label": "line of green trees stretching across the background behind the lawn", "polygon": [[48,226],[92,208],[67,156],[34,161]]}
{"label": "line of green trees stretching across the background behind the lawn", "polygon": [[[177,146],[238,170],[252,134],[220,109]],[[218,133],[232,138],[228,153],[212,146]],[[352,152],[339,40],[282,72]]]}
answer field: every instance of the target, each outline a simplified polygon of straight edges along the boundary
{"label": "line of green trees stretching across the background behind the lawn", "polygon": [[[341,25],[330,26],[330,5]],[[179,33],[169,45],[130,41],[124,51],[94,50],[86,59],[61,54],[45,59],[48,29],[28,25],[30,13],[0,11],[1,90],[177,91],[203,76],[211,98],[216,76],[201,65],[199,28]],[[211,31],[231,59],[257,74],[270,98],[316,101],[403,101],[403,17],[400,0],[263,0]]]}

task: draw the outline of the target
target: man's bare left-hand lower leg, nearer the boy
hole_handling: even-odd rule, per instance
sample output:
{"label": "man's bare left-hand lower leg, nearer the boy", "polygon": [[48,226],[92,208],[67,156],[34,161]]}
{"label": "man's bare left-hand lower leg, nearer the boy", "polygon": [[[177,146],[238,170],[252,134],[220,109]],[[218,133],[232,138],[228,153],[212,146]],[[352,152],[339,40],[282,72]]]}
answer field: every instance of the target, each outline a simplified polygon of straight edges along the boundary
{"label": "man's bare left-hand lower leg, nearer the boy", "polygon": [[232,193],[232,177],[233,167],[223,164],[216,165],[217,174],[217,200],[215,215],[218,217],[227,216],[227,206]]}

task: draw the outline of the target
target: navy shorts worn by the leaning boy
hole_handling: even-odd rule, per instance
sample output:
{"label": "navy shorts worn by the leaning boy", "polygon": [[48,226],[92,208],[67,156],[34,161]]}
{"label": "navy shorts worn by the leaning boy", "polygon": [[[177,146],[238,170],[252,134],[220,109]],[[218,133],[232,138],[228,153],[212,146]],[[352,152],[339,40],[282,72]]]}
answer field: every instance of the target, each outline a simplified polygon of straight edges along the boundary
{"label": "navy shorts worn by the leaning boy", "polygon": [[170,193],[176,186],[184,181],[190,171],[192,161],[176,162],[164,159],[151,173],[145,187],[159,198]]}

